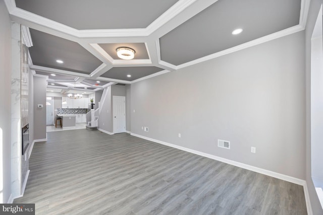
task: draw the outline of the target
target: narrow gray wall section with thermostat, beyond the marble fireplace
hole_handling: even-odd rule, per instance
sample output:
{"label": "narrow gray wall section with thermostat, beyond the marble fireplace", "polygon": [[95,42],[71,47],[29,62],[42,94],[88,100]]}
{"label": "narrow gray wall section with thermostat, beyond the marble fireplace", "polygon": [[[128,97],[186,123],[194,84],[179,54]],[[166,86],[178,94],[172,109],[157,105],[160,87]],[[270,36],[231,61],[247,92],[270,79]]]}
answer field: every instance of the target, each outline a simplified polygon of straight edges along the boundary
{"label": "narrow gray wall section with thermostat, beyond the marble fireplace", "polygon": [[[42,108],[37,105],[42,104]],[[46,138],[46,78],[34,76],[34,138]]]}

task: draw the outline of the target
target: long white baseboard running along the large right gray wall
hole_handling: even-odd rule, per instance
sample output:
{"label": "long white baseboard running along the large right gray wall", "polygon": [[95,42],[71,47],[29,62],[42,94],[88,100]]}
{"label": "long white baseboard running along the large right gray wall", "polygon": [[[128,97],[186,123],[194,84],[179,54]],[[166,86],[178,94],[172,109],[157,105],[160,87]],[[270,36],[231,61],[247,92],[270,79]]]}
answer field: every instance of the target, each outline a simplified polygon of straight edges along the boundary
{"label": "long white baseboard running along the large right gray wall", "polygon": [[137,136],[137,137],[140,137],[140,138],[143,138],[143,139],[147,139],[147,140],[150,140],[150,141],[153,141],[153,142],[157,142],[158,144],[163,144],[165,146],[169,146],[169,147],[173,147],[173,148],[176,148],[176,149],[179,149],[179,150],[183,150],[185,152],[189,152],[189,153],[200,155],[200,156],[210,158],[210,159],[213,159],[213,160],[221,161],[223,163],[227,163],[227,164],[230,164],[230,165],[233,165],[233,166],[236,166],[236,167],[251,170],[253,172],[261,173],[261,174],[268,175],[268,176],[271,176],[271,177],[274,177],[274,178],[282,179],[284,181],[292,182],[294,184],[298,184],[298,185],[306,184],[306,182],[304,180],[302,180],[302,179],[294,178],[294,177],[284,175],[284,174],[281,174],[281,173],[276,173],[276,172],[273,172],[273,171],[270,171],[270,170],[261,169],[261,168],[258,168],[258,167],[250,166],[250,165],[247,165],[247,164],[243,164],[243,163],[240,163],[240,162],[236,162],[236,161],[221,158],[221,157],[218,157],[218,156],[210,155],[210,154],[207,154],[207,153],[199,152],[199,151],[196,151],[196,150],[191,150],[191,149],[181,147],[181,146],[177,146],[177,145],[174,145],[174,144],[169,144],[168,142],[160,141],[160,140],[153,139],[153,138],[146,137],[146,136],[142,136],[142,135],[139,135],[139,134],[131,133],[131,135]]}

